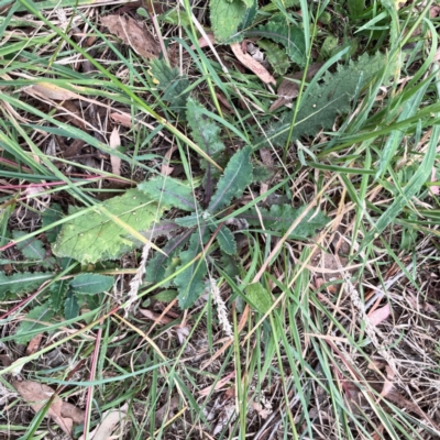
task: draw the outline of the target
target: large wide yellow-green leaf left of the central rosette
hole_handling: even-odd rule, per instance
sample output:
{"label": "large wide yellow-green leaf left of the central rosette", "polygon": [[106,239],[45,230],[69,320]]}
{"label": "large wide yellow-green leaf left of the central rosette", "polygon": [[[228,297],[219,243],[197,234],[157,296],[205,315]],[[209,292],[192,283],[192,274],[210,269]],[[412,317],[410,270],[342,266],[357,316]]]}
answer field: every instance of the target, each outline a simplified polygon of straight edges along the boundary
{"label": "large wide yellow-green leaf left of the central rosette", "polygon": [[72,257],[81,263],[118,258],[140,245],[129,231],[147,230],[160,220],[164,208],[138,189],[128,190],[92,210],[86,209],[82,216],[78,212],[72,216],[63,224],[52,250],[57,256]]}

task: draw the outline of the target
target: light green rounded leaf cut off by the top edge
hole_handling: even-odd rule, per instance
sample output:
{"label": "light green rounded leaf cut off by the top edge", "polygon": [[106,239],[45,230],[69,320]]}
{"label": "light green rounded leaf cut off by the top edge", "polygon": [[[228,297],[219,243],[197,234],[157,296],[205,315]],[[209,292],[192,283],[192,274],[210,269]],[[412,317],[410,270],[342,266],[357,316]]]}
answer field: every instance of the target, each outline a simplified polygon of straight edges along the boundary
{"label": "light green rounded leaf cut off by the top edge", "polygon": [[226,42],[237,32],[248,10],[242,0],[210,0],[209,9],[212,32],[218,43]]}

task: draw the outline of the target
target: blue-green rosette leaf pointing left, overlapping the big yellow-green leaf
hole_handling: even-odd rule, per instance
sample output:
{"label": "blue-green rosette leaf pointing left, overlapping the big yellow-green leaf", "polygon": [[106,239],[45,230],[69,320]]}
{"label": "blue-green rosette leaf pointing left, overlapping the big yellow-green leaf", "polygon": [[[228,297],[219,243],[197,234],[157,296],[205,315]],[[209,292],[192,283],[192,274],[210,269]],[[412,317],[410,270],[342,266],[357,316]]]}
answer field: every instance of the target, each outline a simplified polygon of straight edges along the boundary
{"label": "blue-green rosette leaf pointing left, overlapping the big yellow-green leaf", "polygon": [[161,206],[196,210],[193,188],[182,180],[161,175],[143,182],[138,188]]}

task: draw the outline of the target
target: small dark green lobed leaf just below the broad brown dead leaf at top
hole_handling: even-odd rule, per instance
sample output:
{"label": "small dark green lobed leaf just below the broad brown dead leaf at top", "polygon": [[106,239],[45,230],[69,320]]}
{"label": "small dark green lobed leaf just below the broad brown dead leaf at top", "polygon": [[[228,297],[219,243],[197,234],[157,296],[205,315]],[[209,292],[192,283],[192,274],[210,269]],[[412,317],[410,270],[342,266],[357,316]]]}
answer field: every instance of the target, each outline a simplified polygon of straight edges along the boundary
{"label": "small dark green lobed leaf just below the broad brown dead leaf at top", "polygon": [[170,103],[170,109],[184,111],[189,96],[190,82],[187,76],[180,76],[177,67],[169,67],[164,59],[154,58],[150,62],[150,72],[158,81],[157,88],[164,92],[162,99]]}

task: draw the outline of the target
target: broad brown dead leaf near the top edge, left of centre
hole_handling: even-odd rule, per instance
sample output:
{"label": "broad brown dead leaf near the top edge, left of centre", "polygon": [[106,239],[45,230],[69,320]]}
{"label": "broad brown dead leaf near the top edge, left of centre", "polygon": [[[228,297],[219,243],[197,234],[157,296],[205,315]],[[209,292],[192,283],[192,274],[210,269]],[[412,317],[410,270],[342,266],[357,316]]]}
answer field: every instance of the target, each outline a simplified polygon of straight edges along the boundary
{"label": "broad brown dead leaf near the top edge, left of centre", "polygon": [[160,55],[160,44],[152,33],[131,16],[106,15],[101,18],[101,23],[118,38],[128,44],[138,55],[146,59],[157,58]]}

